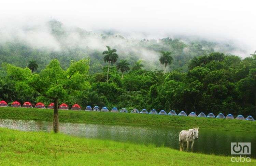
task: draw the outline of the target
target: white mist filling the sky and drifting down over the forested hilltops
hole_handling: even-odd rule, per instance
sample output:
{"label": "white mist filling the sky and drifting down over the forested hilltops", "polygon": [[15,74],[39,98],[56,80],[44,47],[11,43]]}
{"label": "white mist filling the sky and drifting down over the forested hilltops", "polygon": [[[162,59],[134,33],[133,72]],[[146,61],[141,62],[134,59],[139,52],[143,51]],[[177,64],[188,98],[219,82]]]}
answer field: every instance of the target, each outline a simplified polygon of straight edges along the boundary
{"label": "white mist filling the sky and drifting down over the forested hilltops", "polygon": [[[106,45],[118,46],[119,54],[137,54],[155,61],[159,52],[138,45],[143,39],[179,38],[218,42],[215,51],[250,56],[256,50],[256,13],[253,2],[236,1],[1,1],[0,43],[20,40],[33,48],[60,51],[79,47],[102,51]],[[56,19],[67,31],[57,40],[47,21]],[[81,37],[74,29],[88,34]],[[120,37],[102,40],[108,32]],[[226,45],[235,49],[225,50]],[[127,52],[128,51],[128,52]]]}

